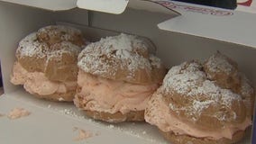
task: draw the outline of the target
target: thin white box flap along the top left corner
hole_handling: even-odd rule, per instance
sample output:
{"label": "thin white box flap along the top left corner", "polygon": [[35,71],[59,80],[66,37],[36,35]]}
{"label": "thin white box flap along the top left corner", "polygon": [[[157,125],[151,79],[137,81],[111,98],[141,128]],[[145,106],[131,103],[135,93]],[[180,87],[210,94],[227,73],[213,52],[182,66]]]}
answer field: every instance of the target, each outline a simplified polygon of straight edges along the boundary
{"label": "thin white box flap along the top left corner", "polygon": [[69,10],[77,7],[77,0],[1,0],[14,4],[23,4],[51,11]]}

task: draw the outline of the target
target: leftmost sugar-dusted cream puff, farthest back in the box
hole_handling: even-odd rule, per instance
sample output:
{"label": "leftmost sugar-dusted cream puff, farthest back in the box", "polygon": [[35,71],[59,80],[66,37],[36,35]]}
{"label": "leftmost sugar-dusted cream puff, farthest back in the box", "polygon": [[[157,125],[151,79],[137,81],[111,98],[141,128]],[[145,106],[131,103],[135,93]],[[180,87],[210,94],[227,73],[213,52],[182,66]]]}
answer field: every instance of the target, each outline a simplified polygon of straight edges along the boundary
{"label": "leftmost sugar-dusted cream puff, farthest back in the box", "polygon": [[81,31],[50,25],[19,42],[11,82],[54,101],[72,101],[77,89],[78,53],[85,44]]}

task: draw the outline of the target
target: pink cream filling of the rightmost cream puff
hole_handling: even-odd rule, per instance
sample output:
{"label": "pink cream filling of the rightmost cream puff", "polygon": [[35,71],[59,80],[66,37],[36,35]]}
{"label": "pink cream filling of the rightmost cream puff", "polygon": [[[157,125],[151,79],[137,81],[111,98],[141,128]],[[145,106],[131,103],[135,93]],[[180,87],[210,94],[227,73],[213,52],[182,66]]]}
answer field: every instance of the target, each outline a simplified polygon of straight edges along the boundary
{"label": "pink cream filling of the rightmost cream puff", "polygon": [[169,112],[169,107],[163,102],[160,94],[151,97],[146,109],[145,121],[165,132],[174,132],[178,135],[189,135],[197,138],[207,139],[232,139],[233,133],[238,130],[245,130],[251,125],[251,119],[247,118],[240,125],[227,125],[221,130],[199,130],[184,121],[178,120],[175,115]]}

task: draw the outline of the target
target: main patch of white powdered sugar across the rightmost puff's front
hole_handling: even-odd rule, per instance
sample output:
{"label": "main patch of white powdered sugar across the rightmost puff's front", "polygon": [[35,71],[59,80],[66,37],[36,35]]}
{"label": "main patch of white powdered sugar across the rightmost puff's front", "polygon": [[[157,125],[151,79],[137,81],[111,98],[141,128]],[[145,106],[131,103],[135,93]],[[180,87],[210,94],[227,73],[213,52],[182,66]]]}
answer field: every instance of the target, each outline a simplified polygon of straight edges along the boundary
{"label": "main patch of white powdered sugar across the rightmost puff's front", "polygon": [[[190,104],[185,107],[177,107],[169,103],[169,108],[175,112],[187,112],[197,121],[201,113],[211,104],[220,103],[224,107],[231,108],[233,101],[242,100],[241,95],[234,94],[229,89],[223,89],[214,81],[208,80],[198,62],[185,62],[172,67],[164,78],[161,89],[166,95],[179,94],[189,100]],[[224,120],[224,114],[216,116]],[[235,118],[236,116],[233,116]]]}

